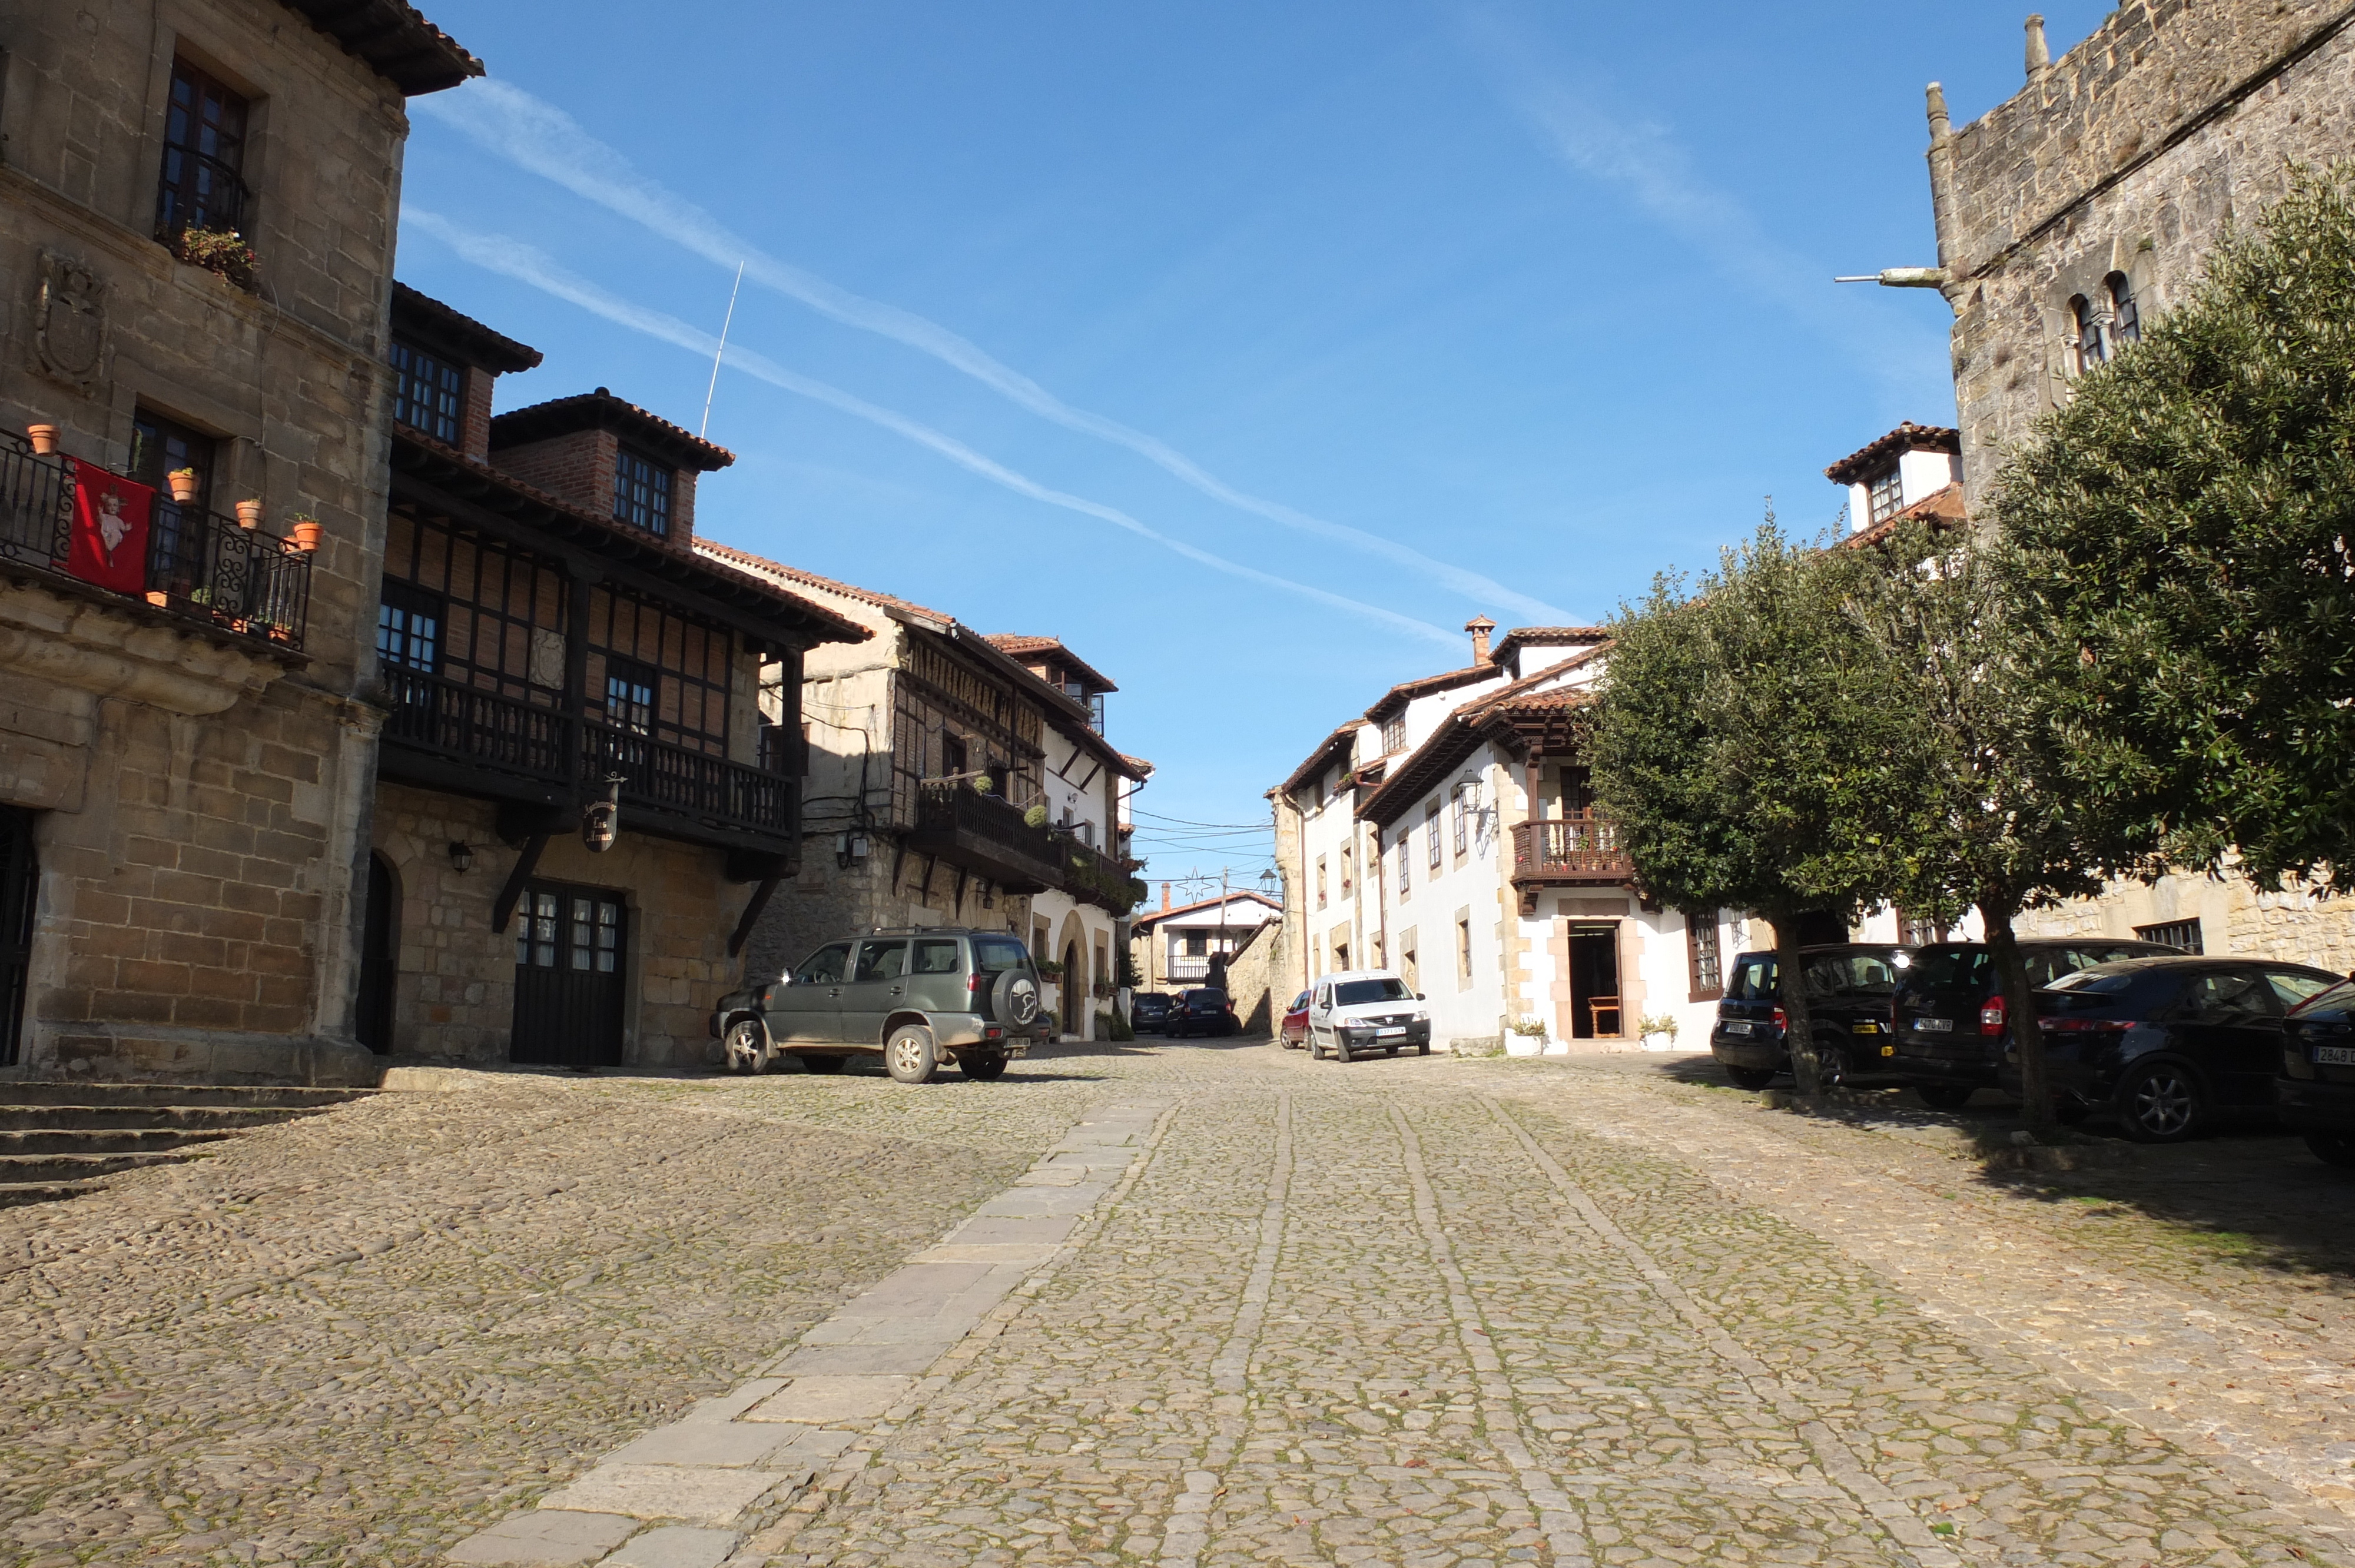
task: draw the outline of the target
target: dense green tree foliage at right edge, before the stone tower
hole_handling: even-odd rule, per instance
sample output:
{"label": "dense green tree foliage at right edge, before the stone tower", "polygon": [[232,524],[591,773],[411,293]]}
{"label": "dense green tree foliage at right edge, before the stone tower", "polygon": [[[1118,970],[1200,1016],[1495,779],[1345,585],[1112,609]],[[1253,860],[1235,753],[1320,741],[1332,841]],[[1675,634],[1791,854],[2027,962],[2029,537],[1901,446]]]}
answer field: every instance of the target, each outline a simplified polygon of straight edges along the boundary
{"label": "dense green tree foliage at right edge, before the stone tower", "polygon": [[[2355,890],[2355,198],[2296,181],[1995,487],[2122,845]],[[2122,866],[2138,869],[2138,866]]]}

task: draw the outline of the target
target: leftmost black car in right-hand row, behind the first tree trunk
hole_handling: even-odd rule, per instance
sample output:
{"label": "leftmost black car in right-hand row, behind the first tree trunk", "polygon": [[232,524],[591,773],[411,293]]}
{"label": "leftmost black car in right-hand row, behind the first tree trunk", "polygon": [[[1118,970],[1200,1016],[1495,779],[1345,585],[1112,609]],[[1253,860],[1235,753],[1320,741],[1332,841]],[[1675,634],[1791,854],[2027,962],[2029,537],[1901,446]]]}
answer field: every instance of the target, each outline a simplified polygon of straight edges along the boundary
{"label": "leftmost black car in right-hand row, behind the first tree trunk", "polygon": [[[1889,998],[1910,949],[1891,942],[1802,946],[1806,1012],[1823,1083],[1846,1083],[1882,1069],[1889,1050]],[[1717,1003],[1710,1055],[1736,1088],[1766,1088],[1790,1069],[1790,1019],[1783,1017],[1780,965],[1773,954],[1736,954],[1726,996]]]}

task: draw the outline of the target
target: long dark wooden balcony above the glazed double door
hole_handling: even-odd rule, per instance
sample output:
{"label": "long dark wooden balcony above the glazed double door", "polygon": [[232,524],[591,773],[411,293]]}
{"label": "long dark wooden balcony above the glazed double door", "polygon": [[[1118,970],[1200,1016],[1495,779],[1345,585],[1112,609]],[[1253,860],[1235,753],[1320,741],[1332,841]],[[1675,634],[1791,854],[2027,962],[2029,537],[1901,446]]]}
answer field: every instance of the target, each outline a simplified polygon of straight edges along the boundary
{"label": "long dark wooden balcony above the glazed double door", "polygon": [[389,779],[577,810],[619,775],[624,833],[798,857],[798,779],[417,669],[386,666],[384,687]]}

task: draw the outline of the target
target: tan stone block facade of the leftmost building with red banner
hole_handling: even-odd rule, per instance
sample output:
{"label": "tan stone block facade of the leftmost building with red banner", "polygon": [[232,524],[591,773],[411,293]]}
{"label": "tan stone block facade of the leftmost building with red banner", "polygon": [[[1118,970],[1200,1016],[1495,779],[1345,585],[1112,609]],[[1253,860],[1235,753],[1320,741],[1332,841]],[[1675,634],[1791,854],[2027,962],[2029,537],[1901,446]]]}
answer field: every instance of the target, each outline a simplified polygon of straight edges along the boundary
{"label": "tan stone block facade of the leftmost building with red banner", "polygon": [[[153,238],[174,54],[254,99],[259,292]],[[405,106],[271,0],[9,7],[0,426],[122,469],[146,407],[212,504],[325,523],[301,657],[0,579],[0,803],[40,812],[31,1071],[349,1076]],[[358,1052],[358,1055],[356,1055]]]}

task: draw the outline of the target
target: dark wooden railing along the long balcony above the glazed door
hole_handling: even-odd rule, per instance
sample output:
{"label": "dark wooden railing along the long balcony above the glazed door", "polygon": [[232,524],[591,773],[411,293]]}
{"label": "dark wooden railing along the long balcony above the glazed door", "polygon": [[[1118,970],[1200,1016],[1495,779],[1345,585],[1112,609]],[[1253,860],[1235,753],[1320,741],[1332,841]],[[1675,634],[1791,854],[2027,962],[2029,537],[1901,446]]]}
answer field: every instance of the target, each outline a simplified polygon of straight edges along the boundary
{"label": "dark wooden railing along the long balcony above the glazed door", "polygon": [[801,786],[787,775],[398,664],[384,666],[384,690],[386,742],[530,779],[542,798],[596,796],[622,775],[624,805],[714,829],[801,833]]}

